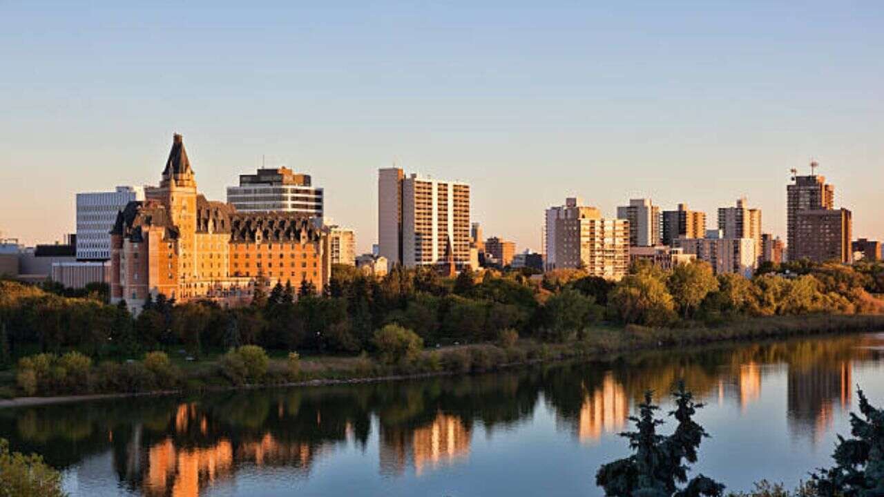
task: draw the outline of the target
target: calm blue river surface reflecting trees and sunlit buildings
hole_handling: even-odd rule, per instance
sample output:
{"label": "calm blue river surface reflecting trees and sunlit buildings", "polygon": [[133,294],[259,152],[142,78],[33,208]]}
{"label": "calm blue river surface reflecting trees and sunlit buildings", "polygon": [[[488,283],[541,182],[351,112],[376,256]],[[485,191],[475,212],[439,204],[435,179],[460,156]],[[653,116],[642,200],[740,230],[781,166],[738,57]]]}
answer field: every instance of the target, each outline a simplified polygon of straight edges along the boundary
{"label": "calm blue river surface reflecting trees and sunlit buildings", "polygon": [[[636,354],[463,378],[0,410],[0,437],[74,496],[601,495],[598,466],[647,388],[706,403],[695,467],[794,485],[884,404],[884,333]],[[671,406],[667,398],[664,406]],[[662,427],[669,432],[673,423]]]}

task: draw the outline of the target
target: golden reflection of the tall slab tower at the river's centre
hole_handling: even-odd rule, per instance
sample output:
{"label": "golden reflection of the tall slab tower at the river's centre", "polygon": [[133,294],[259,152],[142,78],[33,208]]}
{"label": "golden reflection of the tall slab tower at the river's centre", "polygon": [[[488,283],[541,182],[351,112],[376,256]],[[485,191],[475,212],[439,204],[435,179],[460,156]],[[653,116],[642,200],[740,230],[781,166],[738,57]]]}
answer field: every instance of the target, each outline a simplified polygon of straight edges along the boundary
{"label": "golden reflection of the tall slab tower at the river's centre", "polygon": [[421,476],[424,470],[451,464],[469,456],[472,434],[460,417],[442,414],[417,428],[381,426],[378,444],[380,471],[400,475],[409,465]]}

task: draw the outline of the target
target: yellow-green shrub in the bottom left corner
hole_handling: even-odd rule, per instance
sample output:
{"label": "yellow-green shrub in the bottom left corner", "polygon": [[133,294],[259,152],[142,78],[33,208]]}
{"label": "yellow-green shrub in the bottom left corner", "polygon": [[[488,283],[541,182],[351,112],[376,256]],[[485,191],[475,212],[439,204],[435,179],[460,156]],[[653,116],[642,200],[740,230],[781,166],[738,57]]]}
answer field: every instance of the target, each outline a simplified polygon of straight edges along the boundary
{"label": "yellow-green shrub in the bottom left corner", "polygon": [[0,439],[0,494],[16,497],[64,497],[61,474],[39,455],[9,451],[9,442]]}

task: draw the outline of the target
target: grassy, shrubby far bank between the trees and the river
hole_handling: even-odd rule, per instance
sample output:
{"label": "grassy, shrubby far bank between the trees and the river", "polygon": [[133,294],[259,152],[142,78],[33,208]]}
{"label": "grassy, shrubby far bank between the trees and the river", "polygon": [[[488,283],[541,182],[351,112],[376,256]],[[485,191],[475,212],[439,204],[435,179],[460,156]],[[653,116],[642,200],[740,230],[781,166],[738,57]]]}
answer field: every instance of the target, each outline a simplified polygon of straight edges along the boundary
{"label": "grassy, shrubby far bank between the trees and the river", "polygon": [[[564,343],[516,340],[507,344],[481,343],[425,349],[414,359],[396,364],[381,363],[377,358],[365,354],[298,357],[280,356],[271,352],[269,357],[246,357],[245,361],[241,357],[230,355],[204,356],[199,361],[186,361],[182,357],[173,356],[165,362],[162,357],[149,357],[144,361],[108,361],[77,366],[76,357],[65,359],[63,356],[57,357],[56,363],[44,368],[45,371],[50,371],[47,374],[54,375],[52,379],[43,378],[40,380],[43,382],[42,386],[30,391],[26,388],[27,384],[22,383],[21,364],[10,371],[0,371],[0,394],[6,399],[17,399],[34,396],[199,392],[271,385],[321,385],[495,371],[522,364],[564,359],[604,360],[630,351],[683,348],[728,340],[766,340],[879,330],[884,330],[884,315],[756,317],[721,325],[692,325],[676,329],[636,325],[597,326],[585,330],[582,340]],[[253,364],[262,360],[263,365]],[[34,382],[38,382],[36,378]],[[15,405],[17,402],[5,403]]]}

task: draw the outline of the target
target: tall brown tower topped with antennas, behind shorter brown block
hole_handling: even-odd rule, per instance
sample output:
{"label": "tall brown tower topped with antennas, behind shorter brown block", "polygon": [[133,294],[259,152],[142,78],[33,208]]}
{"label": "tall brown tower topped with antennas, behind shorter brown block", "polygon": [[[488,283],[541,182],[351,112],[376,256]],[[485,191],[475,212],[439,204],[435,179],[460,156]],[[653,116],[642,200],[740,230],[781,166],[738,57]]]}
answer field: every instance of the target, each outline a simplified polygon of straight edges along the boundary
{"label": "tall brown tower topped with antennas, behind shorter brown block", "polygon": [[[812,162],[811,172],[818,166]],[[793,170],[792,180],[794,183],[786,187],[786,252],[789,260],[800,258],[798,254],[804,252],[797,239],[798,212],[834,208],[834,186],[826,184],[825,176],[798,176]]]}

